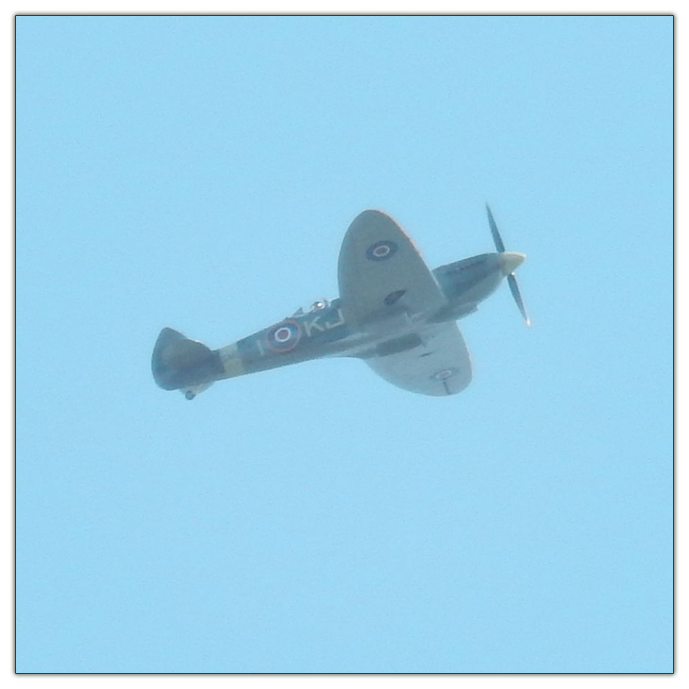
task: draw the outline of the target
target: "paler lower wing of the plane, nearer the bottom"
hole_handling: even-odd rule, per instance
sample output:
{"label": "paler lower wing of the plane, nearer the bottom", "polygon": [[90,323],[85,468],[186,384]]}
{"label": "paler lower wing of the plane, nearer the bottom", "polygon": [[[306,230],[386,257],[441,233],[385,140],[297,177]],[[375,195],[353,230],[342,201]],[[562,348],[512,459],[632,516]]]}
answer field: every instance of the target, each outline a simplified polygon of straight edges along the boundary
{"label": "paler lower wing of the plane, nearer the bottom", "polygon": [[409,344],[364,361],[393,385],[423,395],[455,395],[471,382],[471,358],[456,323],[426,326]]}

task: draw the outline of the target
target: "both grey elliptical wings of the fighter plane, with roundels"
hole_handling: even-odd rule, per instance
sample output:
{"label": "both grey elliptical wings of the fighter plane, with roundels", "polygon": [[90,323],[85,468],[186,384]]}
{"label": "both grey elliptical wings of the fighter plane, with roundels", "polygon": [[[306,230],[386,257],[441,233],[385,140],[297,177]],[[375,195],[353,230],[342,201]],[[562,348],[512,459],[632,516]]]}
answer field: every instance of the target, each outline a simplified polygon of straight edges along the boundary
{"label": "both grey elliptical wings of the fighter plane, with roundels", "polygon": [[358,356],[379,376],[424,395],[453,395],[471,381],[471,360],[455,322],[428,319],[446,304],[409,235],[390,216],[354,218],[338,260],[345,320],[376,344]]}

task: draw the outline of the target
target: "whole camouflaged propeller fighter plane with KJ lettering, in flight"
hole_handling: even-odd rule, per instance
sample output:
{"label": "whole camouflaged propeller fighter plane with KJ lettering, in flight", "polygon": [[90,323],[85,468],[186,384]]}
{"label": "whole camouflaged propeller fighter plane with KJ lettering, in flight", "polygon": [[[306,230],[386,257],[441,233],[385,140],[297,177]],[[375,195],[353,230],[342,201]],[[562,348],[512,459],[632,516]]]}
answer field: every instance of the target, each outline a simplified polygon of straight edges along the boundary
{"label": "whole camouflaged propeller fighter plane with KJ lettering, in flight", "polygon": [[507,278],[526,325],[531,321],[515,270],[525,254],[505,251],[486,203],[495,253],[429,269],[407,232],[389,215],[365,210],[342,241],[340,296],[220,349],[163,328],[153,377],[187,400],[216,380],[324,357],[356,357],[392,384],[424,395],[454,395],[471,382],[471,358],[456,321],[477,310]]}

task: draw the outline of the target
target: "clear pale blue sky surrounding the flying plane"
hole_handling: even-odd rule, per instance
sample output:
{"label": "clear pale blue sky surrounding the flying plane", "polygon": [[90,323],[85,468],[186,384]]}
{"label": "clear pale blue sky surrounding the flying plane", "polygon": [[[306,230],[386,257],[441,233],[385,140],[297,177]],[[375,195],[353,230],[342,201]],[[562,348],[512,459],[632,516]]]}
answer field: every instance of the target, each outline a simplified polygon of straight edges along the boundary
{"label": "clear pale blue sky surrounding the flying plane", "polygon": [[[528,258],[450,398],[156,388],[389,212]],[[671,17],[19,17],[17,670],[672,670]]]}

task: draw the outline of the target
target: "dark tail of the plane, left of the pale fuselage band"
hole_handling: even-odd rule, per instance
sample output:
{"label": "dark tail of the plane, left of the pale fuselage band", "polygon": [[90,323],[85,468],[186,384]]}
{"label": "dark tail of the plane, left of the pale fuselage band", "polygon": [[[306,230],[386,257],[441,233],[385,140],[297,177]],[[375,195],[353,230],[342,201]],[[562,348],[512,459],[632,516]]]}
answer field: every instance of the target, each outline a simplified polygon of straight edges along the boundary
{"label": "dark tail of the plane, left of the pale fuselage band", "polygon": [[158,335],[151,369],[158,387],[179,389],[187,400],[192,400],[223,374],[223,365],[216,351],[172,328],[163,328]]}

